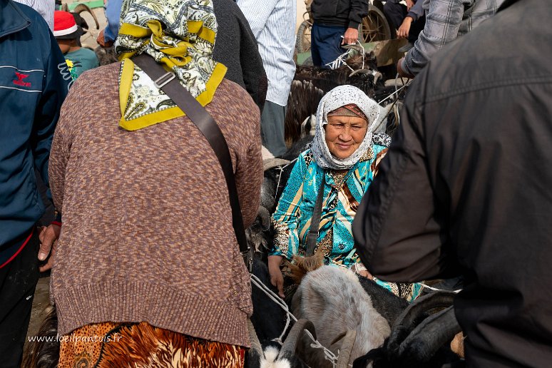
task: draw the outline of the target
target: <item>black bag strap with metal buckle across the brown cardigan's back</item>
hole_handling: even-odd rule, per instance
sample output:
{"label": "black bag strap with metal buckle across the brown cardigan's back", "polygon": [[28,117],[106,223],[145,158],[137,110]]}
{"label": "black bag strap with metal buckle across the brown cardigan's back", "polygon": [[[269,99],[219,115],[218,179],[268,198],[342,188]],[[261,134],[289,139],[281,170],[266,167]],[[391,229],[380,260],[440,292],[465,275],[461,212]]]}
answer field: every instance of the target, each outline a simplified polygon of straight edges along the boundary
{"label": "black bag strap with metal buckle across the brown cardigan's back", "polygon": [[[232,208],[232,225],[234,227],[237,244],[240,245],[240,252],[242,252],[242,255],[245,255],[245,252],[248,254],[250,247],[247,245],[247,240],[245,238],[242,210],[240,207],[240,200],[237,197],[230,150],[228,150],[228,144],[217,123],[191,93],[180,85],[175,75],[165,71],[163,66],[157,63],[153,57],[143,53],[134,57],[132,61],[148,74],[151,80],[154,81],[156,87],[165,92],[167,96],[186,113],[188,118],[190,118],[201,133],[203,133],[203,136],[205,136],[211,148],[213,148],[213,151],[215,151],[218,162],[223,168],[226,185],[228,185],[230,207]],[[250,262],[251,260],[246,260],[246,265],[249,263],[247,265],[248,268],[251,266]]]}

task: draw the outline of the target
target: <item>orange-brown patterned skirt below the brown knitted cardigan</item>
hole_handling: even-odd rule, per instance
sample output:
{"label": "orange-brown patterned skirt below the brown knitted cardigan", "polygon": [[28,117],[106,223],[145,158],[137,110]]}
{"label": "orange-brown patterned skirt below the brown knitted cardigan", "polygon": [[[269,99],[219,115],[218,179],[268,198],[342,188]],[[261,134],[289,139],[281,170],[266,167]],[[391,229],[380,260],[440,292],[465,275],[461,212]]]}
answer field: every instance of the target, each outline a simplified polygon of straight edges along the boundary
{"label": "orange-brown patterned skirt below the brown knitted cardigan", "polygon": [[245,350],[140,323],[88,324],[60,338],[59,368],[243,367]]}

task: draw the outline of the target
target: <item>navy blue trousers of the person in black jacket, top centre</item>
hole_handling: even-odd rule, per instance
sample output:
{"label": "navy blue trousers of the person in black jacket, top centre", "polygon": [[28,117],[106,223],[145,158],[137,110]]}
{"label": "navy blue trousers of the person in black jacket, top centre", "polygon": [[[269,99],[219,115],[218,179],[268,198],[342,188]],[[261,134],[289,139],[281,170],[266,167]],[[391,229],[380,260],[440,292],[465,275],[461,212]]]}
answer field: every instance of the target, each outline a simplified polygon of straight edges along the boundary
{"label": "navy blue trousers of the person in black jacket, top centre", "polygon": [[310,34],[310,53],[314,66],[329,68],[327,63],[334,61],[341,55],[346,48],[341,47],[342,37],[347,31],[347,27],[340,26],[321,26],[313,24]]}

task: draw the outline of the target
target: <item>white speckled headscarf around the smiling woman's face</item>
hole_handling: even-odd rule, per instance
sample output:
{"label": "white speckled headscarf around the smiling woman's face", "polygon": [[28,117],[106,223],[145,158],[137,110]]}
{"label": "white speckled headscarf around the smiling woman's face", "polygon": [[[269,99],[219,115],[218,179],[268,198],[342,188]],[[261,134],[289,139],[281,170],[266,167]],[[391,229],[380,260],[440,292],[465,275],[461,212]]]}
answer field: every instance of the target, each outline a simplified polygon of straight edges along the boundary
{"label": "white speckled headscarf around the smiling woman's face", "polygon": [[[339,159],[332,153],[329,153],[328,145],[326,144],[326,131],[324,125],[328,123],[328,113],[336,108],[354,103],[357,105],[364,115],[368,118],[368,130],[364,140],[360,143],[359,148],[354,151],[348,158]],[[374,128],[379,126],[379,123],[386,118],[387,111],[377,104],[376,101],[366,96],[364,92],[354,86],[337,86],[326,93],[316,112],[316,132],[315,138],[312,140],[312,155],[315,157],[316,163],[321,168],[332,170],[347,170],[358,162],[360,157],[368,150],[372,143],[372,133]]]}

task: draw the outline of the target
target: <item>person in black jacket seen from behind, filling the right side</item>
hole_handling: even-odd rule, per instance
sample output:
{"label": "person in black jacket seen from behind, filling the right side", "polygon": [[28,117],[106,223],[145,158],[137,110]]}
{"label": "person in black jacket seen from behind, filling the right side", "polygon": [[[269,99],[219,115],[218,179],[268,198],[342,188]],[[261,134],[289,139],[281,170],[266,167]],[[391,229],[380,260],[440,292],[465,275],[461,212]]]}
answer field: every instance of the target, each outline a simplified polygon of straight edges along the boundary
{"label": "person in black jacket seen from behind, filling the right side", "polygon": [[431,58],[353,223],[382,280],[464,275],[467,367],[552,362],[551,17],[506,1]]}

